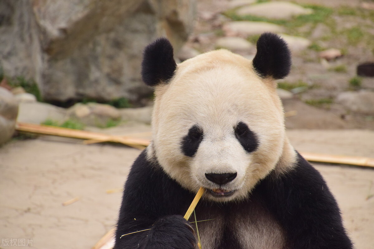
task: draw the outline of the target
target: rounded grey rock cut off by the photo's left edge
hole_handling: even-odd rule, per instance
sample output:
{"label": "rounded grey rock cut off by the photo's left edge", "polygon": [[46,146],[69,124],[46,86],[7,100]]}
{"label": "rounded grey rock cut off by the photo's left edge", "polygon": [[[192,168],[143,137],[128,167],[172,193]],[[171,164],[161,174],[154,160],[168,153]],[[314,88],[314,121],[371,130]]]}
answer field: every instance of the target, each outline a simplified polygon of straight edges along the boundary
{"label": "rounded grey rock cut off by the photo's left edge", "polygon": [[17,100],[10,91],[0,87],[0,145],[13,136],[17,115]]}

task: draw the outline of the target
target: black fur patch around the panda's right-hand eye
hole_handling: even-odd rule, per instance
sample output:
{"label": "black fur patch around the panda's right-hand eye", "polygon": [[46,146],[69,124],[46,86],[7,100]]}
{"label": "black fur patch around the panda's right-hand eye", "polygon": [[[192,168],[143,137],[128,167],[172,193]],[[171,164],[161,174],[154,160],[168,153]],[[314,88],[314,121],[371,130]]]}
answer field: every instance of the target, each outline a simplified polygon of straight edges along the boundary
{"label": "black fur patch around the panda's right-hand eye", "polygon": [[249,130],[245,123],[239,122],[236,127],[234,127],[234,132],[235,137],[246,152],[250,153],[257,149],[259,143],[257,136],[254,132]]}

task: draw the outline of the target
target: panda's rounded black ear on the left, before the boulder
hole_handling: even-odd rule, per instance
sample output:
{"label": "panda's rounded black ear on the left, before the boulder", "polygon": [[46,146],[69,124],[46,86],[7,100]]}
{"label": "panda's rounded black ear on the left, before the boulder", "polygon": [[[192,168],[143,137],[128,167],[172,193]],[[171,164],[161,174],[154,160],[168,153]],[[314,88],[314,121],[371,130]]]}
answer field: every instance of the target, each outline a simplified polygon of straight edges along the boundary
{"label": "panda's rounded black ear on the left, before the boulder", "polygon": [[170,41],[158,38],[145,47],[141,67],[141,75],[147,85],[154,86],[170,80],[177,68]]}

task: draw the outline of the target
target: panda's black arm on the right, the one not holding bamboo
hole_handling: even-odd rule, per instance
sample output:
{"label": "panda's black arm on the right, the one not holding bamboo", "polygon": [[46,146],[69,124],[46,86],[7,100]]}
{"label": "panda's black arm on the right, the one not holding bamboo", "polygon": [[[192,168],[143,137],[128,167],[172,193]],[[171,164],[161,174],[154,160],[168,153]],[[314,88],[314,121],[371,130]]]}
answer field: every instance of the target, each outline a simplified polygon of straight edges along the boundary
{"label": "panda's black arm on the right, the one not holding bamboo", "polygon": [[291,248],[350,249],[337,202],[322,175],[300,154],[295,169],[260,184]]}

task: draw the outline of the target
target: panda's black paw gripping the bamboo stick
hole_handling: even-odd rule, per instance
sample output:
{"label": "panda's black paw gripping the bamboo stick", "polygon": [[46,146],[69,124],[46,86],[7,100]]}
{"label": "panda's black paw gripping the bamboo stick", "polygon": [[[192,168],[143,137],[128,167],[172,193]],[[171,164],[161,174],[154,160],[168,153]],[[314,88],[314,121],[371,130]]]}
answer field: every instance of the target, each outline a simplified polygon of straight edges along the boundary
{"label": "panda's black paw gripping the bamboo stick", "polygon": [[195,232],[181,215],[157,220],[144,241],[144,249],[196,249]]}

